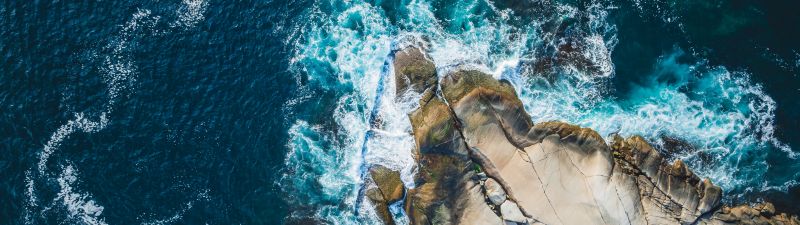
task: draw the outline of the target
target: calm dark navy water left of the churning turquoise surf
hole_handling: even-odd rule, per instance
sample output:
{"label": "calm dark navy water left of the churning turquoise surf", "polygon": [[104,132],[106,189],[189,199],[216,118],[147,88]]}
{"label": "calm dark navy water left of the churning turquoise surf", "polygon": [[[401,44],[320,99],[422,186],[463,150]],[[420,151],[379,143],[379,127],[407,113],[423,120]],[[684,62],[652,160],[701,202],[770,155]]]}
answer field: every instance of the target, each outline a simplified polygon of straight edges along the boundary
{"label": "calm dark navy water left of the churning turquoise surf", "polygon": [[[298,9],[265,1],[200,8],[196,24],[175,26],[188,9],[180,1],[0,4],[0,224],[22,224],[26,213],[34,224],[85,221],[54,200],[67,165],[79,172],[72,190],[102,206],[98,218],[109,224],[176,215],[170,223],[281,221],[282,107],[296,86],[275,30]],[[160,19],[124,31],[139,10]],[[121,36],[129,42],[118,44]],[[120,64],[134,69],[110,122],[65,138],[47,164],[52,174],[36,174],[60,126],[76,113],[98,120],[109,104],[106,77],[118,72],[106,71],[104,58],[117,46],[128,60]],[[26,171],[39,200],[29,209]]]}

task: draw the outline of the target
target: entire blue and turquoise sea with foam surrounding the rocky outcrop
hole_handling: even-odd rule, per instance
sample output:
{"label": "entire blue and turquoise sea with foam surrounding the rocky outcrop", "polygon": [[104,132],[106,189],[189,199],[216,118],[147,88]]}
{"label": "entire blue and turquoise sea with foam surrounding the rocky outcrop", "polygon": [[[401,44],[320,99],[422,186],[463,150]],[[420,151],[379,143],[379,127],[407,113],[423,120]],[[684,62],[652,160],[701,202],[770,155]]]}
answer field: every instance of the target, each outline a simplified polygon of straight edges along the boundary
{"label": "entire blue and turquoise sea with foam surrounding the rocky outcrop", "polygon": [[[798,6],[2,2],[0,224],[374,223],[360,168],[414,186],[414,96],[384,63],[419,41],[440,72],[511,80],[534,121],[683,140],[726,202],[798,213]],[[595,70],[531,69],[567,42]]]}

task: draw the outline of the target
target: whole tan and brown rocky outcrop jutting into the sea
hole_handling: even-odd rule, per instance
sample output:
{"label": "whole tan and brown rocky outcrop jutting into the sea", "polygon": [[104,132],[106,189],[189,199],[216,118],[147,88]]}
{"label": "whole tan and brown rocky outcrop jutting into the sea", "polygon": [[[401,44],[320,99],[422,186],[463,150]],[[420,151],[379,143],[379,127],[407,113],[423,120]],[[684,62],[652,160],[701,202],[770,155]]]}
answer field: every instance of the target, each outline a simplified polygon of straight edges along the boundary
{"label": "whole tan and brown rocky outcrop jutting into the sea", "polygon": [[[588,128],[533,124],[513,87],[482,72],[439,80],[416,48],[398,51],[394,66],[398,93],[422,96],[409,115],[412,224],[800,224],[769,203],[722,206],[719,187],[641,137],[607,142]],[[371,174],[381,194],[368,195],[384,214],[402,185]]]}

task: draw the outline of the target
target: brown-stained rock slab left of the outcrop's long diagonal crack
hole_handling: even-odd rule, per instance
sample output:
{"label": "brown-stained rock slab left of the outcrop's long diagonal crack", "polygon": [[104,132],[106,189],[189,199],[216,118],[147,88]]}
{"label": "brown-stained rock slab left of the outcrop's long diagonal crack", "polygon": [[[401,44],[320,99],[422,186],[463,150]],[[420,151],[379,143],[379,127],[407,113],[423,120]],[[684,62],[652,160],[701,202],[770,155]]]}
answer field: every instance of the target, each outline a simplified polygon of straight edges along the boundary
{"label": "brown-stained rock slab left of the outcrop's long diagonal crack", "polygon": [[[395,69],[405,70],[400,66]],[[480,180],[472,179],[477,177],[473,169],[476,166],[470,160],[458,121],[447,103],[433,94],[436,82],[418,79],[426,78],[409,76],[409,83],[425,84],[414,87],[427,94],[420,99],[420,107],[409,115],[419,168],[416,188],[409,190],[406,198],[410,222],[501,224],[502,219],[486,204]]]}

